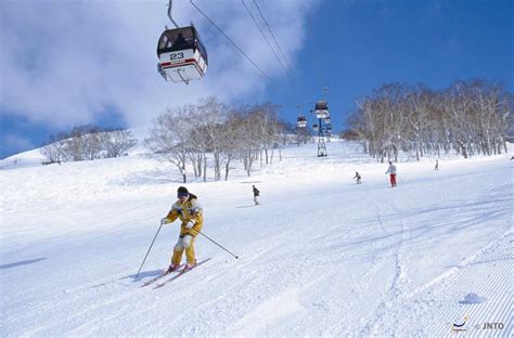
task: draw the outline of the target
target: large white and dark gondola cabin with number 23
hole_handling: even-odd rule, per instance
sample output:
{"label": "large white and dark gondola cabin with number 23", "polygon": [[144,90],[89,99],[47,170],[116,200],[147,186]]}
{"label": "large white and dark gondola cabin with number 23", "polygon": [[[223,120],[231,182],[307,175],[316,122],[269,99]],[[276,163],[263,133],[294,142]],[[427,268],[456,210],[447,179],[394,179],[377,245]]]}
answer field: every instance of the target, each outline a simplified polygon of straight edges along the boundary
{"label": "large white and dark gondola cabin with number 23", "polygon": [[194,26],[166,29],[157,42],[157,57],[165,80],[189,83],[207,73],[207,51]]}

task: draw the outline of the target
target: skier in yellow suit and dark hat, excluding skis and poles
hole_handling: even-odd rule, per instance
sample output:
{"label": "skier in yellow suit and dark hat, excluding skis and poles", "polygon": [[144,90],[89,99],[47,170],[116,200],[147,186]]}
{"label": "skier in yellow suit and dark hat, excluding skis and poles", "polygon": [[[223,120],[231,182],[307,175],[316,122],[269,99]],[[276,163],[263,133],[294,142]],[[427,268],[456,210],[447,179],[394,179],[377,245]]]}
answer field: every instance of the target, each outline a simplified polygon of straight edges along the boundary
{"label": "skier in yellow suit and dark hat, excluding skis and poles", "polygon": [[202,206],[198,198],[188,192],[184,186],[180,186],[177,191],[178,200],[171,206],[168,216],[160,220],[162,224],[174,222],[180,218],[182,224],[180,226],[179,240],[175,245],[174,256],[171,257],[171,264],[168,272],[176,271],[180,266],[182,253],[185,249],[185,258],[188,263],[184,270],[190,270],[196,266],[196,257],[194,255],[194,239],[202,230],[204,218],[202,216]]}

